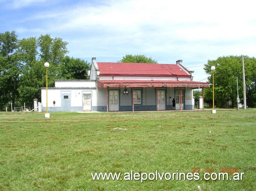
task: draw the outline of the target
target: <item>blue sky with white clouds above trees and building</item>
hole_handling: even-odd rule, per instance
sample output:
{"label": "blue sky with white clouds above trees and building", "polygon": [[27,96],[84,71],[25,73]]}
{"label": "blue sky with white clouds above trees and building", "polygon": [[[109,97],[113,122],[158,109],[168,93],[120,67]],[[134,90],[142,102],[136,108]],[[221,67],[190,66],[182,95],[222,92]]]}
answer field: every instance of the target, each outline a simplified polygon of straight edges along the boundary
{"label": "blue sky with white clouds above trees and building", "polygon": [[69,43],[67,55],[88,62],[127,54],[183,60],[194,81],[207,81],[208,60],[255,57],[255,7],[252,0],[0,0],[0,33],[50,34]]}

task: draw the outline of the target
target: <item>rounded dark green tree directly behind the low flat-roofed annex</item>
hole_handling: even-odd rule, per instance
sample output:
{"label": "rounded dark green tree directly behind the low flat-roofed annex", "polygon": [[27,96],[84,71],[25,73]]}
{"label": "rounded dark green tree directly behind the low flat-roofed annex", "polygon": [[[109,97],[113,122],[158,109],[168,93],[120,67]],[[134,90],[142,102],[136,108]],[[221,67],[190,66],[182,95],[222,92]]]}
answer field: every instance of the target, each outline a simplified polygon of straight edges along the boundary
{"label": "rounded dark green tree directly behind the low flat-roofed annex", "polygon": [[59,67],[58,79],[89,79],[87,71],[90,64],[87,61],[65,56]]}

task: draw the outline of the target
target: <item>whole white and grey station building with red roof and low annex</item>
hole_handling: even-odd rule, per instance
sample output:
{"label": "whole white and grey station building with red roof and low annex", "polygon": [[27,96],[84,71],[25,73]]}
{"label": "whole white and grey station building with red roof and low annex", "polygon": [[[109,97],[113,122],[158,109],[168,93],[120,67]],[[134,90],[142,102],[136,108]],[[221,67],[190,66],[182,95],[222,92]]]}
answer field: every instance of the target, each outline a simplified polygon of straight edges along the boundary
{"label": "whole white and grey station building with red roof and low annex", "polygon": [[[89,80],[55,80],[48,88],[48,111],[194,110],[193,89],[209,83],[193,81],[182,60],[176,64],[96,62]],[[46,111],[46,88],[41,89]]]}

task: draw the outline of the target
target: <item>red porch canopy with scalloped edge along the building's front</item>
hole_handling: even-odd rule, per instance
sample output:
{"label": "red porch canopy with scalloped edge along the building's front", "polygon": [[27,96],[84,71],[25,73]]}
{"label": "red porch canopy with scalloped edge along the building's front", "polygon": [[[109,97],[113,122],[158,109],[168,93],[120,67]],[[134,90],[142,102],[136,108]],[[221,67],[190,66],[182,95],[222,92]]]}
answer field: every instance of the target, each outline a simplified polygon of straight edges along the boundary
{"label": "red porch canopy with scalloped edge along the building's front", "polygon": [[210,83],[189,80],[98,80],[98,89],[101,88],[209,88]]}

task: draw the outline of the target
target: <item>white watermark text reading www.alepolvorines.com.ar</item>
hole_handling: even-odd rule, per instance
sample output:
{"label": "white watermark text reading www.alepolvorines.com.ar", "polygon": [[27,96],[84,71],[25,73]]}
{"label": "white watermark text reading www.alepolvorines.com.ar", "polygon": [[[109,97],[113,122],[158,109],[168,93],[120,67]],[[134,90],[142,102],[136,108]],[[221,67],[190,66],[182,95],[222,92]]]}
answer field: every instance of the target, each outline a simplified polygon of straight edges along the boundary
{"label": "white watermark text reading www.alepolvorines.com.ar", "polygon": [[126,172],[122,173],[91,173],[93,180],[140,180],[141,182],[145,180],[242,180],[244,173],[204,173],[203,177],[200,177],[199,173],[183,173],[183,172]]}

